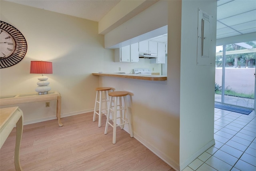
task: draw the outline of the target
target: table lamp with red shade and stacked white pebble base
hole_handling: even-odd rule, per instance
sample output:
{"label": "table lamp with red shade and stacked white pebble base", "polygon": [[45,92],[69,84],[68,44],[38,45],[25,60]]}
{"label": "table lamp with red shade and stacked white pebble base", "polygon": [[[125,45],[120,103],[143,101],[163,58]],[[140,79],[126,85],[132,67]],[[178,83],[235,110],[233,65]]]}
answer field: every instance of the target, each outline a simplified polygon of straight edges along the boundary
{"label": "table lamp with red shade and stacked white pebble base", "polygon": [[48,77],[44,76],[44,74],[52,74],[52,62],[31,61],[30,74],[42,74],[42,76],[38,77],[39,81],[37,82],[36,92],[39,95],[48,94],[51,87],[49,86],[50,82],[47,81]]}

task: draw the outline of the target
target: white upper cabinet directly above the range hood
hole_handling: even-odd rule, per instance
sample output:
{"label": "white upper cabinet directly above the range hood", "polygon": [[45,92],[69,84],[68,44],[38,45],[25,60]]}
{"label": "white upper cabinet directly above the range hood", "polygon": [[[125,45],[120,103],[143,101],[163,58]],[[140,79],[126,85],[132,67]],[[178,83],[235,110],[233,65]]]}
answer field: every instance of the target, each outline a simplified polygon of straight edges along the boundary
{"label": "white upper cabinet directly above the range hood", "polygon": [[157,42],[147,40],[139,42],[139,52],[144,54],[157,54]]}

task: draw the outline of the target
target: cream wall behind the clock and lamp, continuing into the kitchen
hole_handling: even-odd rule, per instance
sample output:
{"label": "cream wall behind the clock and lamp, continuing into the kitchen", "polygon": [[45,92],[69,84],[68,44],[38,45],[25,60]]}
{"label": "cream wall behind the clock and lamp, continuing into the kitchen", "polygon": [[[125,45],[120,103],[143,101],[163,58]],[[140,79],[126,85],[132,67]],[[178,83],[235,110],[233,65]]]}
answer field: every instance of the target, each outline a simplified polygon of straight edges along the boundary
{"label": "cream wall behind the clock and lamp, continuing into the kitchen", "polygon": [[[93,72],[118,72],[118,67],[122,72],[140,67],[161,71],[159,64],[144,59],[136,64],[114,63],[114,50],[104,49],[104,36],[98,34],[97,22],[2,0],[0,3],[0,20],[20,30],[28,44],[23,60],[0,70],[1,96],[36,93],[40,74],[29,73],[31,60],[53,62],[53,74],[47,76],[52,90],[62,95],[62,116],[93,110],[92,99],[99,85]],[[50,101],[47,108],[45,102],[18,104],[25,124],[55,118],[56,101]]]}

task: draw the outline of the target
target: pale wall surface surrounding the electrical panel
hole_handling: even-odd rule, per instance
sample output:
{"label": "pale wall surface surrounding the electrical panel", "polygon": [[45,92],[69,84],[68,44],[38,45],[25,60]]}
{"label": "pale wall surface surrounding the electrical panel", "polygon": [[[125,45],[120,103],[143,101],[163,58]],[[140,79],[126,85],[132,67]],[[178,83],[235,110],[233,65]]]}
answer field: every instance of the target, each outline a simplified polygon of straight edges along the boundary
{"label": "pale wall surface surrounding the electrical panel", "polygon": [[[211,66],[197,65],[198,8],[212,18]],[[180,61],[180,165],[188,165],[214,144],[215,0],[182,1]],[[170,52],[168,50],[168,52]]]}

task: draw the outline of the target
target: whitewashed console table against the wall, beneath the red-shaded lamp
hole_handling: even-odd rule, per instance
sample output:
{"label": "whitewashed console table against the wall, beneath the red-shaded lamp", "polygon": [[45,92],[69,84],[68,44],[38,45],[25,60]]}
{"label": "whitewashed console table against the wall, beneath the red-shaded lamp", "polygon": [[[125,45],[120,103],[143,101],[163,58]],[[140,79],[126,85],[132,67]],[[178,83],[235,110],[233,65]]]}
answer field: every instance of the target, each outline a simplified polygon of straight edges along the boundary
{"label": "whitewashed console table against the wall, beneath the red-shaded lamp", "polygon": [[57,100],[56,117],[60,127],[63,124],[60,122],[60,110],[61,110],[61,96],[57,91],[49,91],[48,94],[38,95],[38,93],[31,94],[18,94],[18,95],[6,95],[0,97],[0,106],[13,105],[20,103],[31,103],[35,101]]}

